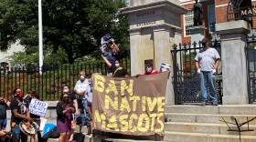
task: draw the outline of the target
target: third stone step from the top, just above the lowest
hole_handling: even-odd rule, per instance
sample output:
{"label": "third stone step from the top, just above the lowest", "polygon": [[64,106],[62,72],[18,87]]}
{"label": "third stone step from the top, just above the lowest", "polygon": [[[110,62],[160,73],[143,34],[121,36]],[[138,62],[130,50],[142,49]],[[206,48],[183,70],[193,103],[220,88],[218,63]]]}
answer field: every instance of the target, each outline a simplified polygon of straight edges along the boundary
{"label": "third stone step from the top, just above the lowest", "polygon": [[[238,130],[235,125],[229,125],[231,129]],[[226,124],[210,124],[210,123],[189,123],[189,122],[166,122],[165,131],[187,132],[187,133],[204,133],[204,134],[220,134],[220,135],[239,135],[239,132],[228,131]],[[253,131],[244,131],[242,136],[256,136],[256,125],[250,125]],[[247,125],[240,129],[248,129]]]}

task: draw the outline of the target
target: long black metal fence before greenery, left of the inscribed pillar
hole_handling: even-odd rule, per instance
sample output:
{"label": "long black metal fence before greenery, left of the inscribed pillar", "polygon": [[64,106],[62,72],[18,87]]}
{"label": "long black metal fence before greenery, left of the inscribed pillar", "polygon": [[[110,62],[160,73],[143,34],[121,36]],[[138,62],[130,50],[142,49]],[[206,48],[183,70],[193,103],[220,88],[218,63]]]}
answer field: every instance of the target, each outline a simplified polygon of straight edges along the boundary
{"label": "long black metal fence before greenery, left of the inscribed pillar", "polygon": [[[129,54],[129,53],[128,53]],[[130,73],[130,54],[121,59],[123,67]],[[1,66],[0,66],[1,67]],[[106,64],[99,61],[87,61],[77,65],[52,65],[43,66],[42,74],[38,67],[1,67],[0,92],[1,96],[11,99],[13,90],[21,88],[24,94],[35,90],[42,100],[58,100],[62,92],[62,86],[68,85],[73,90],[80,71],[85,71],[87,77],[93,73],[106,75]]]}

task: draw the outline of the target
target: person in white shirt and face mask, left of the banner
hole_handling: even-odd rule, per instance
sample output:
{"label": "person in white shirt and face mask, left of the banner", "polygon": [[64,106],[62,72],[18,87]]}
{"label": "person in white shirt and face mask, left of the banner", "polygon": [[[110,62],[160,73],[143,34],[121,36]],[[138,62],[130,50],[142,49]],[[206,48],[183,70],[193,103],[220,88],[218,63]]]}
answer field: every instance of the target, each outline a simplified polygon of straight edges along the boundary
{"label": "person in white shirt and face mask, left of the banner", "polygon": [[86,78],[85,73],[80,71],[80,80],[77,81],[76,86],[74,87],[74,92],[77,94],[78,107],[80,109],[80,118],[82,126],[90,125],[90,117],[88,114],[88,103],[86,98],[87,91],[91,91],[91,84],[89,79]]}

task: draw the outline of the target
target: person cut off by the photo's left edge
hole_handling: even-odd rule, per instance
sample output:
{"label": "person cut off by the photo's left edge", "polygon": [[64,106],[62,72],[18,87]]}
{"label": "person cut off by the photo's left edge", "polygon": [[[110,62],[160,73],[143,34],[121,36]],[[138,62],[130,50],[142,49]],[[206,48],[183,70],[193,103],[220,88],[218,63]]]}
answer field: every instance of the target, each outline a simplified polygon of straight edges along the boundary
{"label": "person cut off by the photo's left edge", "polygon": [[[7,104],[3,96],[0,96],[0,131],[5,130],[7,125],[6,110]],[[0,142],[4,142],[4,139],[0,139]]]}

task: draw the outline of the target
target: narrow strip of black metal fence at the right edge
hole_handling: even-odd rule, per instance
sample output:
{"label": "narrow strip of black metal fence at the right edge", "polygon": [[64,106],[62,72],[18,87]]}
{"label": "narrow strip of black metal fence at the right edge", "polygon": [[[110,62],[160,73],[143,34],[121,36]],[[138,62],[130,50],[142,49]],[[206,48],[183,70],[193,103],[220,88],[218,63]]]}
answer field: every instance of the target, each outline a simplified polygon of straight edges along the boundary
{"label": "narrow strip of black metal fence at the right edge", "polygon": [[249,103],[256,102],[256,36],[247,36],[246,57]]}

